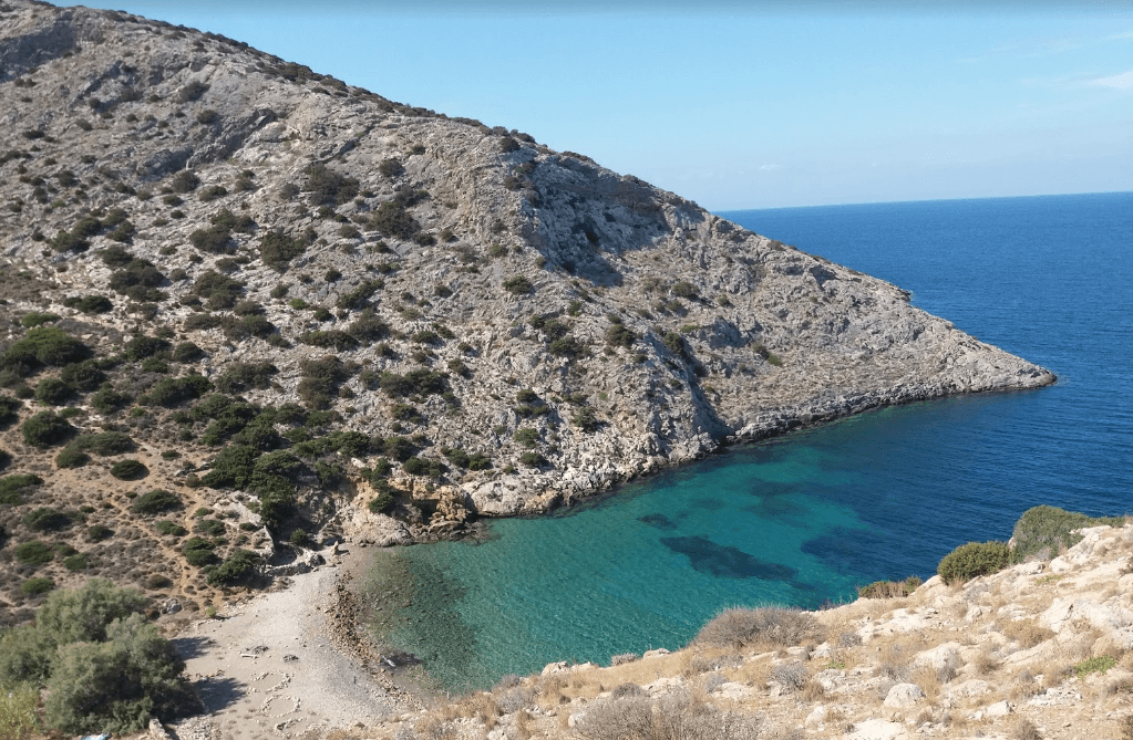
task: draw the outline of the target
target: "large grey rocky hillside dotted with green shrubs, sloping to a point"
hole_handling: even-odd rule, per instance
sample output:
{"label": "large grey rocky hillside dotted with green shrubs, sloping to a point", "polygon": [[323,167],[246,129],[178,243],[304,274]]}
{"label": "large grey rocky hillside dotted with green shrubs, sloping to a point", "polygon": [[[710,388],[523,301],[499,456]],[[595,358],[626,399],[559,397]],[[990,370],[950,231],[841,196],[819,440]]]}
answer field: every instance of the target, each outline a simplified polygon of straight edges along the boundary
{"label": "large grey rocky hillside dotted with green shrubs, sloping to a point", "polygon": [[71,574],[207,593],[284,540],[1054,381],[514,130],[123,12],[5,0],[0,34],[8,620]]}

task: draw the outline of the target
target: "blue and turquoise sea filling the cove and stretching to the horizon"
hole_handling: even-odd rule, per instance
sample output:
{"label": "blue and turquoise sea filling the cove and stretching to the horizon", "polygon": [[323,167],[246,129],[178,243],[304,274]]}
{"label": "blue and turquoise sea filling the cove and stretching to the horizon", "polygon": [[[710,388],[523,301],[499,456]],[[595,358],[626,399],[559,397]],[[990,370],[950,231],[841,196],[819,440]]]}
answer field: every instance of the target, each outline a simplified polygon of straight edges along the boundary
{"label": "blue and turquoise sea filling the cove and stretching to the horizon", "polygon": [[1133,513],[1133,193],[721,215],[910,290],[1058,384],[864,413],[494,522],[479,544],[383,553],[403,582],[387,635],[446,689],[675,648],[730,605],[927,578],[1039,504]]}

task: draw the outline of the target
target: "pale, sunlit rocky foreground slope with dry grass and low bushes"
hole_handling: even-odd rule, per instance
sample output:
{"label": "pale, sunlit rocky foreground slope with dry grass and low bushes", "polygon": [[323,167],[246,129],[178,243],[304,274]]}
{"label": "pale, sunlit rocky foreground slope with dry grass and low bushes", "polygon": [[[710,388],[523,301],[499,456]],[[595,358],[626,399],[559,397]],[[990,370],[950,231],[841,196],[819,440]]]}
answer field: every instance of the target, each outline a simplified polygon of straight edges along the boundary
{"label": "pale, sunlit rocky foreground slope with dry grass and low bushes", "polygon": [[1049,561],[813,613],[731,610],[682,651],[552,663],[325,737],[1128,740],[1133,525],[1081,534]]}

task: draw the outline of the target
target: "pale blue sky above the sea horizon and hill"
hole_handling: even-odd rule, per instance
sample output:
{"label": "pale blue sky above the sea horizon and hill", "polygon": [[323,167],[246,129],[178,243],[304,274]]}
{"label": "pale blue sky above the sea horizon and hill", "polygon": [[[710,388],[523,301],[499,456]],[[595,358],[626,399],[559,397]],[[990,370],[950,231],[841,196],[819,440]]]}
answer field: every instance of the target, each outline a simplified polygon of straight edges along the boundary
{"label": "pale blue sky above the sea horizon and hill", "polygon": [[1133,190],[1133,0],[83,5],[518,129],[715,212]]}

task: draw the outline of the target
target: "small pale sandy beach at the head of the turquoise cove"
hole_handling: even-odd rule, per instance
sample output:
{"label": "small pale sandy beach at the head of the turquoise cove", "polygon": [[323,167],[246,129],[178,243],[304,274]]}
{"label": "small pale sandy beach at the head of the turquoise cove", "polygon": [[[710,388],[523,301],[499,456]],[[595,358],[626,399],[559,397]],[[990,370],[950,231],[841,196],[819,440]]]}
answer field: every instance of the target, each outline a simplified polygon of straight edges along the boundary
{"label": "small pale sandy beach at the head of the turquoise cove", "polygon": [[327,563],[290,585],[189,625],[173,643],[206,714],[173,729],[180,740],[299,737],[419,708],[377,656],[352,637],[348,585],[366,550],[326,550]]}

